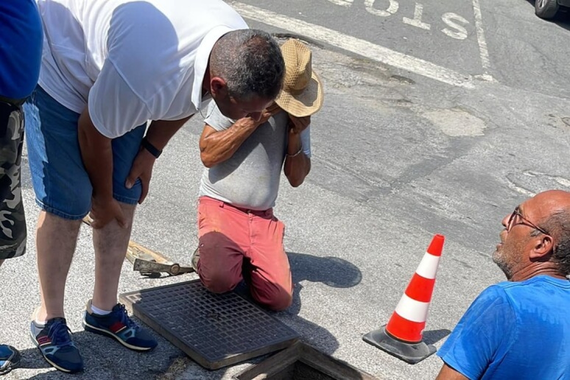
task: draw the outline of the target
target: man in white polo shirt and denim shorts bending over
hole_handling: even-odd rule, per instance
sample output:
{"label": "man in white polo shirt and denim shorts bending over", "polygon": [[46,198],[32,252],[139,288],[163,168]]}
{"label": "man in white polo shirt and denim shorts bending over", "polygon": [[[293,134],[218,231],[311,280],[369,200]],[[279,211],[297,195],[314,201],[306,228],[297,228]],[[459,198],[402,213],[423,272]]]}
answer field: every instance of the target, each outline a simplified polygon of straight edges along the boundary
{"label": "man in white polo shirt and denim shorts bending over", "polygon": [[24,107],[42,209],[36,231],[42,303],[31,336],[51,365],[76,372],[83,360],[63,299],[82,218],[91,211],[95,248],[85,329],[133,350],[153,349],[156,340],[117,304],[117,287],[154,160],[210,97],[227,117],[259,119],[279,92],[284,64],[271,36],[249,30],[221,0],[38,5],[43,61]]}

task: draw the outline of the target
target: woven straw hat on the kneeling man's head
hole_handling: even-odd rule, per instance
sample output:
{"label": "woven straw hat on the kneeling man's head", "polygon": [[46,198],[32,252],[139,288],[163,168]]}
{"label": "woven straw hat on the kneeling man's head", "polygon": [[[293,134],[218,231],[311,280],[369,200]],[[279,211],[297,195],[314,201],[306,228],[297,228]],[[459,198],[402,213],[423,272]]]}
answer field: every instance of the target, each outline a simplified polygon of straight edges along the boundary
{"label": "woven straw hat on the kneeling man's head", "polygon": [[311,50],[297,39],[281,46],[285,61],[283,87],[275,103],[296,117],[309,116],[323,106],[323,84],[311,68]]}

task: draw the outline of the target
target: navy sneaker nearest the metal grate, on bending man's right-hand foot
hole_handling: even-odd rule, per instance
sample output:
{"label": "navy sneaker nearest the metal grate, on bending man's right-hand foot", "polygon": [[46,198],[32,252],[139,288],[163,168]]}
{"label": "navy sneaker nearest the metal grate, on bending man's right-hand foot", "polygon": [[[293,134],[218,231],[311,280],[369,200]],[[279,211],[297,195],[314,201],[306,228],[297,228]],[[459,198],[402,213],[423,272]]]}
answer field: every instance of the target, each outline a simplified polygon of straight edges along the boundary
{"label": "navy sneaker nearest the metal grate, on bending man's right-hand foot", "polygon": [[128,316],[123,304],[116,304],[109,314],[99,315],[93,313],[89,300],[83,327],[88,332],[115,338],[123,346],[135,351],[150,351],[158,345],[148,331]]}

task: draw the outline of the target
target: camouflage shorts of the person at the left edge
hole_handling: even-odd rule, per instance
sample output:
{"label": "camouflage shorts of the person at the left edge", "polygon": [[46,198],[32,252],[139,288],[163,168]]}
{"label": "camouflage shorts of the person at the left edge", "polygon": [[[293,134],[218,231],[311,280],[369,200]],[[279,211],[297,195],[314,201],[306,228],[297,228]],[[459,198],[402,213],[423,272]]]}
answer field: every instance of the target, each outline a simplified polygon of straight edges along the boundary
{"label": "camouflage shorts of the person at the left edge", "polygon": [[26,252],[21,162],[22,108],[0,99],[0,260]]}

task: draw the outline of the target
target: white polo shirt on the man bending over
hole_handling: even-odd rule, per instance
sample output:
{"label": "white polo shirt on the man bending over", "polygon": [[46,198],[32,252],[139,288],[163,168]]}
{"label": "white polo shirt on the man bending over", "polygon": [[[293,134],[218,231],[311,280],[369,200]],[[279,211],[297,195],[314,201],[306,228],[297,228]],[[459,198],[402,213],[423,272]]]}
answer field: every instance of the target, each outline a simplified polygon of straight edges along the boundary
{"label": "white polo shirt on the man bending over", "polygon": [[214,43],[247,24],[222,0],[38,0],[39,84],[100,133],[180,120],[202,104]]}

